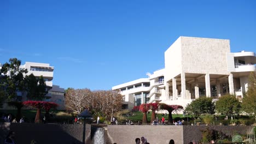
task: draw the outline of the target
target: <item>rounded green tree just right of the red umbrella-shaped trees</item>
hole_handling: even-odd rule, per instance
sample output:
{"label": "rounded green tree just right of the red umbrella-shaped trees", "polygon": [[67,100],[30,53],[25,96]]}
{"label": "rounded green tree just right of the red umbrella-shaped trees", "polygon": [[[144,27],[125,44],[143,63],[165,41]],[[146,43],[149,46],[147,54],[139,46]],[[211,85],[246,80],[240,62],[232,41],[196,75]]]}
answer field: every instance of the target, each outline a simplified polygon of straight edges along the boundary
{"label": "rounded green tree just right of the red umbrella-shaped trees", "polygon": [[194,115],[195,117],[199,117],[200,115],[214,114],[214,103],[212,98],[200,97],[195,99],[190,104],[187,105],[185,111],[190,115]]}

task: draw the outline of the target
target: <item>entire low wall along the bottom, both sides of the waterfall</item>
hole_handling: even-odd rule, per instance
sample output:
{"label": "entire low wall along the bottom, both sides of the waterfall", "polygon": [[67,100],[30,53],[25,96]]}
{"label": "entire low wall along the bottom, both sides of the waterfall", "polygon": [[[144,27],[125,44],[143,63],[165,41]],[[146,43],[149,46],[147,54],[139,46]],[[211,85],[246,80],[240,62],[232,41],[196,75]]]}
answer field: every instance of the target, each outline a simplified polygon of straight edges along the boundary
{"label": "entire low wall along the bottom, both sides of the waterfall", "polygon": [[[91,143],[91,127],[98,125],[86,124],[86,143]],[[168,143],[171,139],[175,143],[188,143],[192,140],[201,140],[202,132],[207,127],[222,131],[226,135],[247,134],[247,130],[253,127],[247,126],[180,126],[180,125],[101,125],[107,131],[109,140],[104,144],[114,142],[120,144],[135,143],[137,137],[146,137],[149,143]],[[34,124],[34,123],[3,123],[0,124],[0,143],[9,130],[15,131],[17,143],[30,143],[36,140],[41,143],[82,143],[83,124]],[[102,143],[103,144],[103,143]]]}

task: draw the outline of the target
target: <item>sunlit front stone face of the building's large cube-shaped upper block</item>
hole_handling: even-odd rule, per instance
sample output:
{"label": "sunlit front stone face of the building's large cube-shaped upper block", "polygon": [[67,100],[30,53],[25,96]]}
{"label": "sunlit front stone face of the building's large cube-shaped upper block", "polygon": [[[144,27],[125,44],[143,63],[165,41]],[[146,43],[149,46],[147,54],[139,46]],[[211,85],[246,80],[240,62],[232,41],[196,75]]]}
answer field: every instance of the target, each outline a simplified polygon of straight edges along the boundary
{"label": "sunlit front stone face of the building's large cube-shaped upper block", "polygon": [[229,74],[226,62],[226,53],[230,52],[229,40],[180,38],[184,73]]}

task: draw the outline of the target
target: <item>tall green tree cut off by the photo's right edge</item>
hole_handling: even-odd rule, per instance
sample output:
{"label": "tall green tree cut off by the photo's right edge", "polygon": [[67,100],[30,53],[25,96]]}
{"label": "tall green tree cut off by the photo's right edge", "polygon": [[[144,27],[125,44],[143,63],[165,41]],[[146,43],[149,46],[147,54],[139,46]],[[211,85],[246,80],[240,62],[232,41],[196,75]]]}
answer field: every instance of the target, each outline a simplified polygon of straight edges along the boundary
{"label": "tall green tree cut off by the photo's right edge", "polygon": [[248,91],[243,97],[242,110],[254,115],[256,119],[256,72],[253,71],[249,75]]}

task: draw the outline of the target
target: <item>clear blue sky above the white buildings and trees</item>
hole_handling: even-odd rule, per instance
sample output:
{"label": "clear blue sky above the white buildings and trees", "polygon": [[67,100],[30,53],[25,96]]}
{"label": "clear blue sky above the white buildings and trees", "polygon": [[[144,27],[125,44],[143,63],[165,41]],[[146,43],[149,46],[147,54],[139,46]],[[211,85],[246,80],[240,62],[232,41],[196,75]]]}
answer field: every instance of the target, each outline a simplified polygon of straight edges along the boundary
{"label": "clear blue sky above the white buildings and trees", "polygon": [[54,85],[111,89],[164,68],[179,36],[256,50],[255,1],[0,1],[0,63],[50,63]]}

